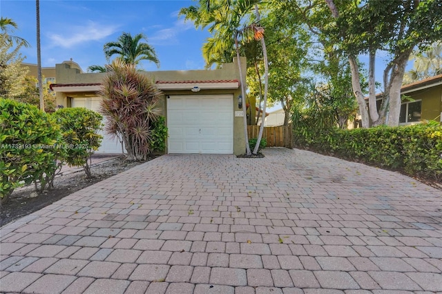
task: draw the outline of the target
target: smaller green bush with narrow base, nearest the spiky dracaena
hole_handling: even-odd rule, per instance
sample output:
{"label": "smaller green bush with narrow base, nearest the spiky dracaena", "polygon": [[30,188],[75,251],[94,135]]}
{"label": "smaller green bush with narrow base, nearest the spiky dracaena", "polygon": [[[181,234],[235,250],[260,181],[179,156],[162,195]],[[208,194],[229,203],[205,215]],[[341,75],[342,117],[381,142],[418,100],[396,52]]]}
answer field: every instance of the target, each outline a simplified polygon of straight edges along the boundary
{"label": "smaller green bush with narrow base, nearest the spiky dracaena", "polygon": [[62,108],[52,114],[61,127],[69,166],[83,166],[87,177],[90,173],[90,155],[99,148],[103,136],[102,115],[86,108]]}

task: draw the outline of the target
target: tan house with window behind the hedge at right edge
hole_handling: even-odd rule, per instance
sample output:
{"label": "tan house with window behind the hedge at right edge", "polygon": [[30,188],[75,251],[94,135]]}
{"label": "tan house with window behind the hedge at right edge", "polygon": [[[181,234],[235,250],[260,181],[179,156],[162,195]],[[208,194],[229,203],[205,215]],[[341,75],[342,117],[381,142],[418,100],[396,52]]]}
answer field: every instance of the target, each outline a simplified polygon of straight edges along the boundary
{"label": "tan house with window behind the hedge at right edge", "polygon": [[[442,75],[415,81],[401,87],[403,97],[399,125],[419,124],[423,120],[442,122]],[[381,107],[381,95],[376,95]]]}

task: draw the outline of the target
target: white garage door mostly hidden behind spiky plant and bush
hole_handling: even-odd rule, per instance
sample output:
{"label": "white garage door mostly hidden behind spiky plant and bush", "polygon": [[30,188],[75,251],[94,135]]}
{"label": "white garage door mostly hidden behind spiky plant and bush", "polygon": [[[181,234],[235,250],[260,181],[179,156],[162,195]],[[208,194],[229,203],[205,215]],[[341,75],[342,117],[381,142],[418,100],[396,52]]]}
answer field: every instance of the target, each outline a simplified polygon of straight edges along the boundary
{"label": "white garage door mostly hidden behind spiky plant and bush", "polygon": [[[80,97],[73,98],[71,100],[72,107],[84,107],[94,111],[99,111],[99,102],[101,98],[99,97]],[[103,119],[103,124],[106,124],[106,119]],[[99,131],[99,134],[103,136],[102,146],[95,151],[95,154],[121,154],[122,144],[119,143],[118,139],[113,139],[111,135],[104,133],[104,130]]]}

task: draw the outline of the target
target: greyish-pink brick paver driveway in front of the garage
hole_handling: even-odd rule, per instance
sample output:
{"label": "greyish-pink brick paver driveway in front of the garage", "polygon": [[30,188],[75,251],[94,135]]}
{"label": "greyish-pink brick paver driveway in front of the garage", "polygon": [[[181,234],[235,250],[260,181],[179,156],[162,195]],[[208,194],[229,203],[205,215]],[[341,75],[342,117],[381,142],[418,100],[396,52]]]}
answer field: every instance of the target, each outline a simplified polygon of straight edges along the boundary
{"label": "greyish-pink brick paver driveway in front of the garage", "polygon": [[265,155],[165,155],[3,227],[1,292],[442,292],[440,190]]}

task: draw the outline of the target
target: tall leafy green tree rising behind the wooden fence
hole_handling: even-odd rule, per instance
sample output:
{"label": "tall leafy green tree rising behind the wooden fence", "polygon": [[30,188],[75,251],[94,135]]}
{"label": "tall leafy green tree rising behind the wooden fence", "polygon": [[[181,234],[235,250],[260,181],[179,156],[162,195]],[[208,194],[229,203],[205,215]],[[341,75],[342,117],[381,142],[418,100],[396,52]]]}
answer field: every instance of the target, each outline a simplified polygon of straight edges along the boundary
{"label": "tall leafy green tree rising behind the wooden fence", "polygon": [[[307,70],[307,53],[311,47],[310,36],[299,21],[293,3],[271,1],[262,10],[266,15],[262,26],[266,28],[269,63],[269,93],[267,105],[280,103],[285,111],[284,125],[290,119],[296,98],[302,96],[302,72]],[[262,66],[260,67],[261,71]],[[263,74],[262,74],[263,75]],[[249,84],[254,95],[260,91],[256,83]],[[258,89],[258,90],[256,90]],[[259,97],[259,96],[258,96]]]}

